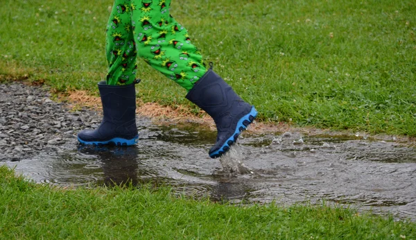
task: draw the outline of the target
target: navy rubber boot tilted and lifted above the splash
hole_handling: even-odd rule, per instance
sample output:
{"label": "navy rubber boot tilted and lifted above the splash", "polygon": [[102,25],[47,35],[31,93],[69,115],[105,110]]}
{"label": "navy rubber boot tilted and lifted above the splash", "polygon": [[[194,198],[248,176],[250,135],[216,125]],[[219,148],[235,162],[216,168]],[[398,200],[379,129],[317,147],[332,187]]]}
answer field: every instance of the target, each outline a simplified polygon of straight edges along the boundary
{"label": "navy rubber boot tilted and lifted above the splash", "polygon": [[209,157],[212,158],[226,153],[240,133],[257,117],[254,106],[243,101],[212,69],[193,85],[187,98],[215,121],[218,133],[216,144],[209,150]]}

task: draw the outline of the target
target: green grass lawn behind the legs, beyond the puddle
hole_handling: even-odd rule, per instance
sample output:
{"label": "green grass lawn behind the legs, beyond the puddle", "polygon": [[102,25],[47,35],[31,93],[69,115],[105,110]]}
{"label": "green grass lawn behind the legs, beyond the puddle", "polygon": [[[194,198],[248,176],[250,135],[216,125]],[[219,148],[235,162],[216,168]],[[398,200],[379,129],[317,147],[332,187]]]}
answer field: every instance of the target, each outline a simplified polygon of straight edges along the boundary
{"label": "green grass lawn behind the legs, beyond the puddle", "polygon": [[[1,4],[1,79],[96,94],[111,0]],[[184,0],[171,10],[260,119],[416,136],[415,1]],[[191,105],[173,81],[139,69],[144,102]]]}

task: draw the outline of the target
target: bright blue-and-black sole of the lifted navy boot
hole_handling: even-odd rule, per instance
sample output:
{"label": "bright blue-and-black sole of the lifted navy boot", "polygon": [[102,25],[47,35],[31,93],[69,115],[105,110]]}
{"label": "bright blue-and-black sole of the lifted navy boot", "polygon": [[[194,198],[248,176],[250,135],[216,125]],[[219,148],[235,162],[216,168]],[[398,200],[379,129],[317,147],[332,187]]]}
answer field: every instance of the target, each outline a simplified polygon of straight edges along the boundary
{"label": "bright blue-and-black sole of the lifted navy boot", "polygon": [[229,151],[229,148],[237,141],[237,138],[239,137],[241,132],[243,132],[243,130],[246,130],[250,123],[252,123],[254,119],[256,119],[256,117],[257,110],[254,108],[254,106],[252,106],[251,111],[244,117],[242,117],[237,123],[237,127],[234,134],[231,137],[229,137],[229,139],[225,141],[225,144],[223,144],[223,146],[221,146],[217,151],[210,153],[209,157],[217,158],[227,153],[227,151]]}

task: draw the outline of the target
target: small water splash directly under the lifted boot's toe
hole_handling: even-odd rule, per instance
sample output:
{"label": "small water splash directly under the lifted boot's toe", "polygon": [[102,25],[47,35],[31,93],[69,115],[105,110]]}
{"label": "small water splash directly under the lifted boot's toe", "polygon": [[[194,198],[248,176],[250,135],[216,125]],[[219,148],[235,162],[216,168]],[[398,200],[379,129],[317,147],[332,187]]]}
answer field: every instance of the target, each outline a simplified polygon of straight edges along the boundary
{"label": "small water splash directly under the lifted boot's toe", "polygon": [[229,148],[227,153],[220,157],[220,163],[223,166],[224,173],[230,176],[253,174],[254,172],[241,162],[243,158],[241,146],[235,143]]}

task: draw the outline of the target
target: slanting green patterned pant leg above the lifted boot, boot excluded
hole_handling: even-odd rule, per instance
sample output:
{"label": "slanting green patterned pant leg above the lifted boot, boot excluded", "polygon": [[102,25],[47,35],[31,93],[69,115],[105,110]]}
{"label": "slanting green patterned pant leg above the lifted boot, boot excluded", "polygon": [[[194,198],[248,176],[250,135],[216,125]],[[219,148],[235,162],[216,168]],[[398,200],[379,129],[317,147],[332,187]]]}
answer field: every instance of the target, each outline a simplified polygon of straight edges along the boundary
{"label": "slanting green patterned pant leg above the lifted boot, boot excluded", "polygon": [[187,30],[169,15],[171,0],[132,0],[133,35],[139,56],[187,89],[207,72]]}

